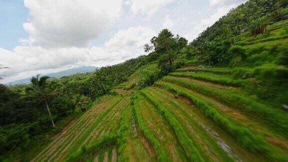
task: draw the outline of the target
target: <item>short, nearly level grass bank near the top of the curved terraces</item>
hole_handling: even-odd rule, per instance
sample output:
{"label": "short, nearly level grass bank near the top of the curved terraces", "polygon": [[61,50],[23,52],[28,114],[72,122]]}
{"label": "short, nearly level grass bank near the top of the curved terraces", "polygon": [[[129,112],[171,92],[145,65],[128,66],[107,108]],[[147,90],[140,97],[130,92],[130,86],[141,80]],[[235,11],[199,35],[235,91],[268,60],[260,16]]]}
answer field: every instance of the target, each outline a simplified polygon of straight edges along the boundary
{"label": "short, nearly level grass bank near the top of the curved terraces", "polygon": [[169,73],[169,75],[191,77],[195,79],[232,86],[242,86],[244,83],[247,82],[247,80],[234,80],[224,75],[216,75],[211,73],[171,72]]}

